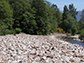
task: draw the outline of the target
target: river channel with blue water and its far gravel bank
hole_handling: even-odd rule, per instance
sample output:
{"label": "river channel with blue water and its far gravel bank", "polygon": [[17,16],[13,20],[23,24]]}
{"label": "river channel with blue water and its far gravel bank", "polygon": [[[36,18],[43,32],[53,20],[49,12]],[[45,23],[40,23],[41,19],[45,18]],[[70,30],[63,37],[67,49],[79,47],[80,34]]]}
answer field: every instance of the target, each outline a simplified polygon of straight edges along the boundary
{"label": "river channel with blue water and its far gravel bank", "polygon": [[74,36],[72,36],[72,35],[67,36],[67,34],[63,34],[63,33],[54,33],[52,35],[55,36],[56,38],[61,38],[61,39],[65,40],[65,41],[67,41],[69,43],[84,46],[84,42],[80,41],[78,34],[76,34]]}

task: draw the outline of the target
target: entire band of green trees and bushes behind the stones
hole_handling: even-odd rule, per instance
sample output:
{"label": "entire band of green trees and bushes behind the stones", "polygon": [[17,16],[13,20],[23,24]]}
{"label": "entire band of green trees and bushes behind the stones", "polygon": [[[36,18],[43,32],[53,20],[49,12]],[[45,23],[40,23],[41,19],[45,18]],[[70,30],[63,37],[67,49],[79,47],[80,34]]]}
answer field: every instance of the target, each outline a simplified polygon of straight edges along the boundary
{"label": "entire band of green trees and bushes behind the stones", "polygon": [[74,4],[65,5],[61,12],[46,0],[0,0],[0,35],[59,32],[84,37],[84,10],[79,21],[77,13]]}

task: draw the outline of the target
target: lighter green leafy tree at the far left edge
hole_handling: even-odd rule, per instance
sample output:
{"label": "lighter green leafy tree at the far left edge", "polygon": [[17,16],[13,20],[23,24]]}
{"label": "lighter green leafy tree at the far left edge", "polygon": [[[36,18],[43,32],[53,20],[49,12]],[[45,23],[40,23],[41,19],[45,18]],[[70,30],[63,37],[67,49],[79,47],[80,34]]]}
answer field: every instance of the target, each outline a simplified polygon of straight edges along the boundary
{"label": "lighter green leafy tree at the far left edge", "polygon": [[13,12],[9,3],[5,0],[0,0],[0,29],[12,29]]}

